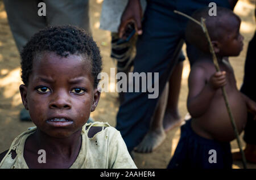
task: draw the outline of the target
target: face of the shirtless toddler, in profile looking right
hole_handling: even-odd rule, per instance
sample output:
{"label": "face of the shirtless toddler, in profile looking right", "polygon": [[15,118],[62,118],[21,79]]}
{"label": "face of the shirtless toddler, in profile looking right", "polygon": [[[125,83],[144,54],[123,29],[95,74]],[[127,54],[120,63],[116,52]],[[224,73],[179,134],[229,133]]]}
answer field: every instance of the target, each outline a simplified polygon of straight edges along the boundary
{"label": "face of the shirtless toddler, in profile looking right", "polygon": [[237,56],[243,49],[243,36],[240,34],[241,21],[236,16],[226,16],[225,33],[220,40],[220,52],[222,56]]}

